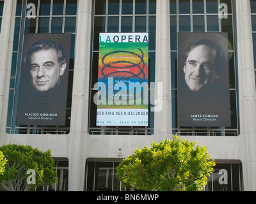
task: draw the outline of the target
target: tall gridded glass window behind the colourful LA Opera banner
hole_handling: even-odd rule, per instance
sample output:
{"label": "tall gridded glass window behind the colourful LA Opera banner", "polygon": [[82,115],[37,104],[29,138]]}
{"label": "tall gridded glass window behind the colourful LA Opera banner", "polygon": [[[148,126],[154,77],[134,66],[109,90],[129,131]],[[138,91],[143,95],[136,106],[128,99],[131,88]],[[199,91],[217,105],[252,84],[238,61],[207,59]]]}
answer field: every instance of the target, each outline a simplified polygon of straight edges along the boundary
{"label": "tall gridded glass window behind the colourful LA Opera banner", "polygon": [[[110,9],[110,6],[113,7]],[[97,93],[97,90],[94,89],[94,85],[98,82],[100,33],[147,32],[149,50],[148,78],[150,82],[154,82],[156,56],[156,0],[94,0],[93,13],[93,50],[90,71],[90,116],[88,119],[88,132],[91,135],[152,135],[154,133],[154,113],[152,112],[149,112],[150,119],[147,126],[97,126],[97,105],[95,105],[93,101],[93,96]]]}

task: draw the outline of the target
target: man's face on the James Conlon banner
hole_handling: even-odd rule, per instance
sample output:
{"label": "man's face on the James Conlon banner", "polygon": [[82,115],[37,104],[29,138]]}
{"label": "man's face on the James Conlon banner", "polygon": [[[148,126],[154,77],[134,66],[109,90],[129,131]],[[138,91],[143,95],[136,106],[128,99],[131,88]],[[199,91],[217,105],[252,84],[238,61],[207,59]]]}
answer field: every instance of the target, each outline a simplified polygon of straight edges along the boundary
{"label": "man's face on the James Conlon banner", "polygon": [[185,80],[191,91],[200,91],[216,79],[214,69],[216,50],[207,45],[198,45],[188,55],[183,71]]}

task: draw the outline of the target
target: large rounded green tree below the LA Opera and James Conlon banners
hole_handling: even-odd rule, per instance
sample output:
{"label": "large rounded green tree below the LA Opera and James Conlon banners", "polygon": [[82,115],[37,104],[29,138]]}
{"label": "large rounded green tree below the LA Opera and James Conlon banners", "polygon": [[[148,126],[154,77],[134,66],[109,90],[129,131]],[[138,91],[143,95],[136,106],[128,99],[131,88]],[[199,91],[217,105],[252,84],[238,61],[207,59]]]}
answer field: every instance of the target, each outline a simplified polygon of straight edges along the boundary
{"label": "large rounded green tree below the LA Opera and James Conlon banners", "polygon": [[117,177],[125,187],[145,191],[202,191],[215,166],[206,147],[195,142],[164,140],[152,147],[146,145],[123,159],[117,166]]}

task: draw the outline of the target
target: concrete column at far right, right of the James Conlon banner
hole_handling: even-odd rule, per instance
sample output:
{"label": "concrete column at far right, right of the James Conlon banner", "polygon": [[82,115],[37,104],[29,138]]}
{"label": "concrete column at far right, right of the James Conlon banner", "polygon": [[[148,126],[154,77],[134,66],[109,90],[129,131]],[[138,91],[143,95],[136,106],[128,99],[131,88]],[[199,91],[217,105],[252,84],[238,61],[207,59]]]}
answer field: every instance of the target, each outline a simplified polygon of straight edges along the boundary
{"label": "concrete column at far right, right of the James Conlon banner", "polygon": [[250,0],[236,1],[236,8],[240,136],[243,136],[245,153],[244,190],[256,191],[256,104]]}

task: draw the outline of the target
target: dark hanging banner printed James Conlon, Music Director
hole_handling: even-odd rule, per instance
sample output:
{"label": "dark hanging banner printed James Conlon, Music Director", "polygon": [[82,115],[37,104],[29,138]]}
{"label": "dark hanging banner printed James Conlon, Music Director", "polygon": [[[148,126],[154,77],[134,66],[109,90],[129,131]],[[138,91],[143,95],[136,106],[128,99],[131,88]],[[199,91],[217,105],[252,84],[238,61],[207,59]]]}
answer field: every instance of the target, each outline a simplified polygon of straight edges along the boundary
{"label": "dark hanging banner printed James Conlon, Music Director", "polygon": [[227,33],[179,33],[178,45],[179,126],[230,127]]}

